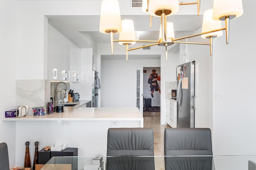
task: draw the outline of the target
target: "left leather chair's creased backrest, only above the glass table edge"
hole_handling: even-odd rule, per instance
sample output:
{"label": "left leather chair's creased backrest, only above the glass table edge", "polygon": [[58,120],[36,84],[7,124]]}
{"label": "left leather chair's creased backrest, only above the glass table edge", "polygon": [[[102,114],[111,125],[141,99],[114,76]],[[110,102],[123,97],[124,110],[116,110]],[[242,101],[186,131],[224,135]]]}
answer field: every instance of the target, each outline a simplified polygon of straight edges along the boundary
{"label": "left leather chair's creased backrest, only above the glass table edge", "polygon": [[154,155],[152,128],[109,128],[107,156]]}

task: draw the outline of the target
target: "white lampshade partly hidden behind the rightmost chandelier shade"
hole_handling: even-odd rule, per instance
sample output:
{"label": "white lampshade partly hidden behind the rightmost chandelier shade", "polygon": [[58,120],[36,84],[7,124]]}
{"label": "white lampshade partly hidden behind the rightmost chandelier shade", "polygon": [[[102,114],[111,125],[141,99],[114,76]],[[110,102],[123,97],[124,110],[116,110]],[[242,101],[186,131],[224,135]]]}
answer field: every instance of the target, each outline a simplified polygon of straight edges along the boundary
{"label": "white lampshade partly hidden behind the rightmost chandelier shade", "polygon": [[[218,30],[221,28],[222,28],[221,21],[220,20],[216,21],[216,20],[212,19],[212,9],[206,10],[204,12],[202,32]],[[220,37],[222,35],[223,35],[222,31],[216,31],[216,32],[208,33],[208,34],[202,34],[201,37],[202,38],[206,38],[206,37],[209,38],[210,36]]]}

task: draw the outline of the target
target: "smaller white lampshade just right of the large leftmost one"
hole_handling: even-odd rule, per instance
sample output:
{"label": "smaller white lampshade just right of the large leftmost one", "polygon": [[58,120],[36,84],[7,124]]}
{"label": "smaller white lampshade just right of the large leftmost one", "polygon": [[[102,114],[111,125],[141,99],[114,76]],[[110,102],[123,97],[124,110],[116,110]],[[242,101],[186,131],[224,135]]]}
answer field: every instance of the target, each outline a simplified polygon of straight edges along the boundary
{"label": "smaller white lampshade just right of the large leftmost one", "polygon": [[[133,20],[122,20],[122,32],[119,33],[119,40],[135,40]],[[136,42],[118,42],[119,44],[135,44]]]}

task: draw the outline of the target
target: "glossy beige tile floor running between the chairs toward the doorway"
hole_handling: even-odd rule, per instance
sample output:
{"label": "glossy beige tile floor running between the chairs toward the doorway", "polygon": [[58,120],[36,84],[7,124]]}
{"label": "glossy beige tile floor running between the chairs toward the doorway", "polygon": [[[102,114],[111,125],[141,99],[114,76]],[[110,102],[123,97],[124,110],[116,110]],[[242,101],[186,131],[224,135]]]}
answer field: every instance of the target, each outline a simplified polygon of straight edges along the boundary
{"label": "glossy beige tile floor running between the chairs toward the doorway", "polygon": [[170,128],[168,125],[160,124],[160,112],[144,112],[144,127],[154,130],[154,155],[164,155],[164,129]]}

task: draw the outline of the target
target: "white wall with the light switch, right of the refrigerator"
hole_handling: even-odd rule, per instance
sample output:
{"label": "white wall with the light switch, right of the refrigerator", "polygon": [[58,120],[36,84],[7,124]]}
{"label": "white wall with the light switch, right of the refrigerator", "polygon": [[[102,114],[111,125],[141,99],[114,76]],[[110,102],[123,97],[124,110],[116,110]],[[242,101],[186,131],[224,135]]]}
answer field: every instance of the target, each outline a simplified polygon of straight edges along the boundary
{"label": "white wall with the light switch, right of the refrigerator", "polygon": [[[230,40],[214,40],[213,60],[213,151],[214,154],[256,153],[256,89],[254,7],[244,0],[244,14],[230,20]],[[216,101],[215,92],[224,100]]]}

